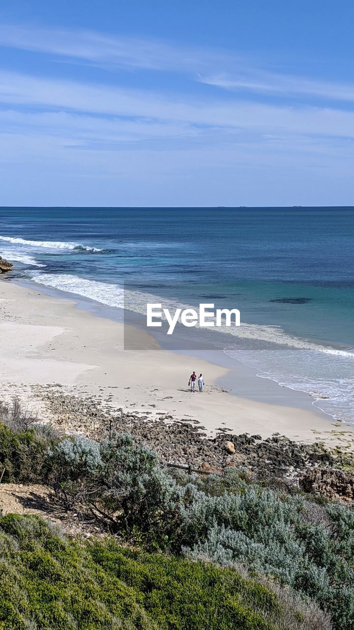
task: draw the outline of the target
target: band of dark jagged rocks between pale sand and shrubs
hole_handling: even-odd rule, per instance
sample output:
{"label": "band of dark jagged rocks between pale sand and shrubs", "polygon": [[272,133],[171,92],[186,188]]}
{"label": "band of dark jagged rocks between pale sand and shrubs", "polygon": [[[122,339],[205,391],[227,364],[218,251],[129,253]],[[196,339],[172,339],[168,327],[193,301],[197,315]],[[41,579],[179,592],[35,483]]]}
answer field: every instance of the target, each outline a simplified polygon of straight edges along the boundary
{"label": "band of dark jagged rocks between pale sand and shrubs", "polygon": [[[261,435],[235,435],[225,427],[210,437],[196,420],[177,420],[151,408],[139,412],[117,410],[111,404],[111,394],[101,401],[94,396],[82,398],[67,394],[60,384],[37,386],[37,396],[45,403],[54,425],[63,432],[80,433],[96,440],[115,431],[130,432],[139,444],[155,450],[161,462],[191,464],[204,473],[239,468],[260,483],[266,481],[268,487],[297,491],[299,479],[305,483],[306,474],[312,471],[333,473],[334,479],[342,483],[341,471],[354,470],[352,450],[339,447],[331,450],[321,442],[300,444],[279,433],[262,440]],[[311,492],[317,491],[308,487]],[[321,488],[329,492],[325,484]],[[337,490],[338,496],[343,496],[343,490]],[[349,491],[346,496],[349,498]]]}

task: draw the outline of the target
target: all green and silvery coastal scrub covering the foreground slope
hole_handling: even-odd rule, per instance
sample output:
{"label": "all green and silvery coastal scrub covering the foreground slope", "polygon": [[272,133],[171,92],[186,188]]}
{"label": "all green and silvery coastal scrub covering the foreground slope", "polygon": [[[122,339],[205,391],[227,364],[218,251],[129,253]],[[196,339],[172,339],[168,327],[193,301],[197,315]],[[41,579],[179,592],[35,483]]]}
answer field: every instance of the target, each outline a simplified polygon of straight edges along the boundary
{"label": "all green and silvery coastal scrub covering the foreground slope", "polygon": [[352,506],[270,489],[241,469],[171,473],[128,434],[98,443],[0,425],[1,464],[9,481],[52,486],[115,536],[79,544],[3,518],[0,611],[37,624],[4,627],[325,630],[328,613],[335,630],[354,627]]}

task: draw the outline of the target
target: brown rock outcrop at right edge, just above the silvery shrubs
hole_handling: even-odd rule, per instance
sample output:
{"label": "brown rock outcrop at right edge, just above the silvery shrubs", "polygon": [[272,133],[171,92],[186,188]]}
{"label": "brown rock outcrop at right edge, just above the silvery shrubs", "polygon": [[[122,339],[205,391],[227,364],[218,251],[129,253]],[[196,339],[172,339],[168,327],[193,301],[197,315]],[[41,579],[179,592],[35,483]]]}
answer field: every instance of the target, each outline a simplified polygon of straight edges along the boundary
{"label": "brown rock outcrop at right edge, just above the silvery shrubs", "polygon": [[354,473],[352,471],[338,471],[315,469],[307,471],[299,479],[300,488],[305,492],[324,495],[329,499],[354,499]]}

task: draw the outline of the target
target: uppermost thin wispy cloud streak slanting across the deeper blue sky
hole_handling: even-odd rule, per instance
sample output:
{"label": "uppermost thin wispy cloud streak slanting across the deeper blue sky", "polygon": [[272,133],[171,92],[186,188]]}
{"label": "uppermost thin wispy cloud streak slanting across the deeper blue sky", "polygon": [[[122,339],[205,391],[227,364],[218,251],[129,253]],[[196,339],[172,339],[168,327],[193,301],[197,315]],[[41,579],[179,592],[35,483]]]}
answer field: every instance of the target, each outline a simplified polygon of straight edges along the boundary
{"label": "uppermost thin wispy cloud streak slanting across the deeper blue sky", "polygon": [[173,45],[154,38],[110,36],[95,31],[0,25],[0,46],[28,50],[55,59],[126,70],[182,72],[199,83],[253,95],[311,97],[354,101],[354,83],[274,72],[243,54]]}

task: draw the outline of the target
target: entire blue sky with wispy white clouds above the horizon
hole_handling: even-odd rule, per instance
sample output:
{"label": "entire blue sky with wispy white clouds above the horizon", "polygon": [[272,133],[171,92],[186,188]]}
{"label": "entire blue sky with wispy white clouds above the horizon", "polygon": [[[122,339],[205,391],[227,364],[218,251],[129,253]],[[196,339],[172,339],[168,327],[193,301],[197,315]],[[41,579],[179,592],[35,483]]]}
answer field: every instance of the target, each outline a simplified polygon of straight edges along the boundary
{"label": "entire blue sky with wispy white clouds above the horizon", "polygon": [[0,206],[354,205],[349,0],[3,0]]}

